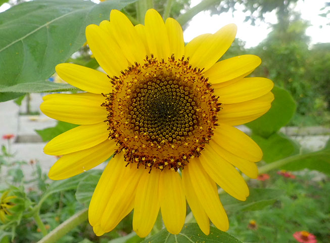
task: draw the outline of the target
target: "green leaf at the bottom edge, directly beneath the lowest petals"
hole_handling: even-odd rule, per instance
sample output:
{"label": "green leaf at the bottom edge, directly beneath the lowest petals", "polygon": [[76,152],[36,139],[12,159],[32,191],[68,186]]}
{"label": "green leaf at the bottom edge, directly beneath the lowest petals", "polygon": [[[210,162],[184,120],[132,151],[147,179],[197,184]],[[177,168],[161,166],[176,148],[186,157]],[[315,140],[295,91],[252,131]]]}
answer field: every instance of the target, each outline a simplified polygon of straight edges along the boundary
{"label": "green leaf at the bottom edge, directly beneath the lowest petals", "polygon": [[210,234],[205,235],[197,223],[185,224],[178,234],[170,234],[166,229],[162,229],[157,234],[145,239],[141,243],[242,243],[242,241],[232,235],[210,226]]}

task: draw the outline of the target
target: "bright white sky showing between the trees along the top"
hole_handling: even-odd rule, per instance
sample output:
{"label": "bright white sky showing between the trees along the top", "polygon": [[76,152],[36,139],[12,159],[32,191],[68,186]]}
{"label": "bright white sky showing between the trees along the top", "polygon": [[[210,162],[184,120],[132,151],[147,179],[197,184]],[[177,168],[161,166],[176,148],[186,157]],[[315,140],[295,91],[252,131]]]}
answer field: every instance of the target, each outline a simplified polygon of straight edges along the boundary
{"label": "bright white sky showing between the trees along the top", "polygon": [[[192,0],[192,7],[200,2],[201,0]],[[320,13],[319,10],[324,7],[325,2],[327,1],[299,0],[295,5],[295,11],[300,12],[301,17],[308,20],[311,24],[306,30],[306,34],[311,36],[311,45],[330,42],[330,25],[326,25],[330,20],[318,16]],[[0,6],[0,13],[6,11],[9,7],[9,4],[3,4]],[[214,33],[226,24],[235,23],[238,26],[237,37],[246,43],[245,47],[250,48],[257,46],[271,31],[269,25],[271,23],[276,23],[275,12],[267,13],[264,22],[259,21],[256,26],[252,26],[249,22],[244,22],[245,14],[242,12],[242,9],[242,7],[240,8],[240,6],[238,6],[238,11],[234,12],[233,17],[231,12],[213,16],[210,16],[208,11],[197,14],[190,21],[189,26],[183,33],[184,41],[189,42],[200,34]],[[322,28],[319,26],[322,26]]]}

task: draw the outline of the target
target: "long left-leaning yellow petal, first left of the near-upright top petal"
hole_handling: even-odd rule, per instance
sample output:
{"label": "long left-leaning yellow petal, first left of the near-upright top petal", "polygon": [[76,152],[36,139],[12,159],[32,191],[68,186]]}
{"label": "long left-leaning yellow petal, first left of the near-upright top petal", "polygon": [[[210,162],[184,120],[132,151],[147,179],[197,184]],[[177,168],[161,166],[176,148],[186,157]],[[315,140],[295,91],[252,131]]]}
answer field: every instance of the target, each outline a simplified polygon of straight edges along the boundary
{"label": "long left-leaning yellow petal, first left of the near-upright top petal", "polygon": [[131,64],[142,62],[146,57],[145,46],[130,20],[120,11],[112,10],[110,24],[110,30],[126,59]]}

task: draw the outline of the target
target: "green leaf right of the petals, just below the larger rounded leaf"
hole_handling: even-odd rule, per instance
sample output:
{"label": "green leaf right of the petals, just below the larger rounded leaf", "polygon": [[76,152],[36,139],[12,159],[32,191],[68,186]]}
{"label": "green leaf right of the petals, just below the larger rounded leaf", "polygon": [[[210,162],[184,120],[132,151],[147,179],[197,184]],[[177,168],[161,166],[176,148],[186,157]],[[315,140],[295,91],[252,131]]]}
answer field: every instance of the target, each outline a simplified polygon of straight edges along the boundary
{"label": "green leaf right of the petals, just below the larger rounded leaf", "polygon": [[299,153],[299,145],[281,133],[274,133],[268,138],[253,133],[251,138],[262,149],[262,159],[267,163]]}

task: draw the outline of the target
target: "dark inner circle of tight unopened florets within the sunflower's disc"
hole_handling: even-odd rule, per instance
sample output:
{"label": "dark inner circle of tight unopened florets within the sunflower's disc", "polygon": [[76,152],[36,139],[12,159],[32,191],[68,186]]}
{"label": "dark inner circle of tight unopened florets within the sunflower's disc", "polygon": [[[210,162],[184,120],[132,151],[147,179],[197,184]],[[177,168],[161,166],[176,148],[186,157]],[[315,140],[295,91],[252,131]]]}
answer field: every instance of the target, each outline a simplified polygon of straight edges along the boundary
{"label": "dark inner circle of tight unopened florets within the sunflower's disc", "polygon": [[127,118],[146,140],[176,143],[198,127],[196,105],[192,87],[173,75],[159,74],[135,85]]}

